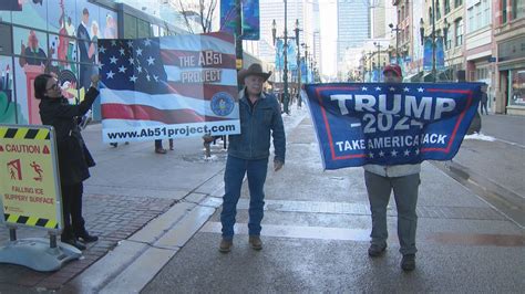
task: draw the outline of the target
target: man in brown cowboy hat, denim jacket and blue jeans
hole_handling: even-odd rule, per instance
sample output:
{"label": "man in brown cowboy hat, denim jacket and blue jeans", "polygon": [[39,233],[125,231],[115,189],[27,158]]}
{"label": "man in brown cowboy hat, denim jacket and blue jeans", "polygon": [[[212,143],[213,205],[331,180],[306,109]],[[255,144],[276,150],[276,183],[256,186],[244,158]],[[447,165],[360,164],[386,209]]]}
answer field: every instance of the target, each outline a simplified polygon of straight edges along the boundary
{"label": "man in brown cowboy hat, denim jacket and blue jeans", "polygon": [[240,135],[229,136],[228,159],[224,175],[225,195],[223,198],[223,239],[219,251],[231,250],[234,240],[236,207],[245,174],[248,175],[250,193],[248,242],[255,250],[262,249],[260,241],[260,221],[265,206],[264,186],[270,156],[270,134],[274,137],[274,170],[285,165],[286,138],[276,97],[262,92],[262,84],[271,72],[262,72],[260,64],[251,64],[248,70],[239,72],[239,82],[244,88],[239,93]]}

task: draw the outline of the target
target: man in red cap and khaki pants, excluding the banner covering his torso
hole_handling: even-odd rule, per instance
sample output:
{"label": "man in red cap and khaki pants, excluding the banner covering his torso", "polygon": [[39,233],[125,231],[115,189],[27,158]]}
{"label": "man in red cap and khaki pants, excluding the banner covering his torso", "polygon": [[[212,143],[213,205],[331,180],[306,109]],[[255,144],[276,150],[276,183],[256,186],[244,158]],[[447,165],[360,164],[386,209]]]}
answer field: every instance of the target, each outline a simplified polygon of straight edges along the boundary
{"label": "man in red cap and khaki pants, excluding the banner covering his torso", "polygon": [[[384,83],[401,83],[403,75],[397,64],[383,69]],[[371,245],[368,254],[371,258],[380,256],[387,250],[387,206],[393,190],[398,208],[398,237],[400,252],[403,255],[401,269],[415,269],[415,228],[418,216],[418,190],[420,186],[421,165],[379,166],[366,165],[364,182],[367,186],[370,210],[372,213]]]}

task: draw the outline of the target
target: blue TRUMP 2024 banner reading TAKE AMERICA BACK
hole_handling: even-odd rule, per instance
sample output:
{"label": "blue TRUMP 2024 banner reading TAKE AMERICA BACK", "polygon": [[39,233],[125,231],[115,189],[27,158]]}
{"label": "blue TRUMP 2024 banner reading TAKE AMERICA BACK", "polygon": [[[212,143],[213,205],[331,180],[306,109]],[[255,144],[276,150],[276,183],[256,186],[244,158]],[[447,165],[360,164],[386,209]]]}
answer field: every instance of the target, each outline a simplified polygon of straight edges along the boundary
{"label": "blue TRUMP 2024 banner reading TAKE AMERICA BACK", "polygon": [[450,160],[477,111],[481,86],[305,85],[325,169]]}

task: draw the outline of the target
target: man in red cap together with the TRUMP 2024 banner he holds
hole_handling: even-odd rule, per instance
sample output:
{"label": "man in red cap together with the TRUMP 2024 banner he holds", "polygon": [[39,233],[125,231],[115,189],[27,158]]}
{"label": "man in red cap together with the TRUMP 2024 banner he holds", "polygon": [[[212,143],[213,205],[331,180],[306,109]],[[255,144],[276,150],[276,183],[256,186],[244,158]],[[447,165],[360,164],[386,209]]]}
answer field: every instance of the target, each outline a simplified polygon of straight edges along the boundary
{"label": "man in red cap together with the TRUMP 2024 banner he holds", "polygon": [[325,169],[364,166],[371,213],[370,256],[387,249],[387,206],[398,208],[401,267],[415,269],[420,164],[451,160],[481,97],[481,83],[401,83],[399,65],[384,83],[307,84],[308,106]]}

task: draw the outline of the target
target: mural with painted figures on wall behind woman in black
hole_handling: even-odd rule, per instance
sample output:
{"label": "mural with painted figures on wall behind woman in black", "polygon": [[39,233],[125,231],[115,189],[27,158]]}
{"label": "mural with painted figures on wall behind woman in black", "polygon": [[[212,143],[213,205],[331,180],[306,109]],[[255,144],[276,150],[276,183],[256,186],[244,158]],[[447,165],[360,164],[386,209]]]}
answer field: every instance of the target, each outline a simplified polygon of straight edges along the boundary
{"label": "mural with painted figures on wall behind woman in black", "polygon": [[[6,1],[0,0],[7,7]],[[20,9],[9,10],[0,11],[2,21],[35,28],[13,27],[17,56],[10,73],[12,75],[14,70],[17,93],[11,90],[10,101],[18,103],[18,124],[40,124],[34,77],[44,72],[54,74],[70,103],[83,99],[91,75],[102,66],[97,59],[97,40],[117,38],[117,14],[87,0],[22,0]],[[100,106],[94,105],[96,107]]]}

